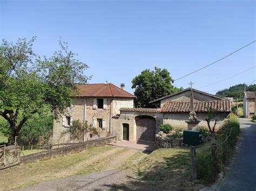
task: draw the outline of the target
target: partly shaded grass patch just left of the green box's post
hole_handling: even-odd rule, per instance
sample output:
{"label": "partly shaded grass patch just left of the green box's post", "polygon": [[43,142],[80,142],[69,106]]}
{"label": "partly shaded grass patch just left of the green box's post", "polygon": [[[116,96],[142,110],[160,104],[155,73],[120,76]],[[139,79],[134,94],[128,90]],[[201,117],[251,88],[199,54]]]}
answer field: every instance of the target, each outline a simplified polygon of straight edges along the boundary
{"label": "partly shaded grass patch just left of the green box's post", "polygon": [[161,189],[183,188],[190,174],[190,151],[187,148],[157,149],[138,166],[142,181]]}

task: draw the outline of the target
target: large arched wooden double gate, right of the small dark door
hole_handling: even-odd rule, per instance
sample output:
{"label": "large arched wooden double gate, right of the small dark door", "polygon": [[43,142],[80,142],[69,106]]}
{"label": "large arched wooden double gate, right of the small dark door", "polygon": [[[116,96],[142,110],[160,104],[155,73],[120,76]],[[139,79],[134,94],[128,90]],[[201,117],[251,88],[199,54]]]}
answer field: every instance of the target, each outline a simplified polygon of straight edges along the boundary
{"label": "large arched wooden double gate, right of the small dark door", "polygon": [[136,140],[154,141],[156,137],[156,119],[142,115],[136,119]]}

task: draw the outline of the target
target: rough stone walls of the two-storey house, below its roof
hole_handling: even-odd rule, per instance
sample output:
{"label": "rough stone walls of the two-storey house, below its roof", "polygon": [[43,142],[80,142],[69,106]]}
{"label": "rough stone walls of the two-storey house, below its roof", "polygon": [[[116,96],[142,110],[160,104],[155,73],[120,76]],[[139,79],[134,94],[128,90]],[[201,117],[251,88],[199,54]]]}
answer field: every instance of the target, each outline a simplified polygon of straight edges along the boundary
{"label": "rough stone walls of the two-storey house, below its roof", "polygon": [[[106,107],[93,108],[93,99],[105,99]],[[71,117],[71,120],[84,120],[88,121],[89,124],[97,126],[95,122],[97,119],[104,120],[104,126],[98,129],[98,136],[94,136],[92,139],[104,138],[113,134],[113,128],[116,128],[116,119],[113,118],[115,115],[120,114],[120,107],[133,107],[133,98],[105,98],[105,97],[76,97],[73,98],[73,105],[68,108],[63,115],[60,115],[58,120],[53,122],[53,138],[52,144],[63,144],[70,142],[69,135],[63,135],[69,126],[63,125],[63,118]],[[114,125],[114,126],[113,126]],[[89,134],[84,137],[85,140],[90,140]]]}

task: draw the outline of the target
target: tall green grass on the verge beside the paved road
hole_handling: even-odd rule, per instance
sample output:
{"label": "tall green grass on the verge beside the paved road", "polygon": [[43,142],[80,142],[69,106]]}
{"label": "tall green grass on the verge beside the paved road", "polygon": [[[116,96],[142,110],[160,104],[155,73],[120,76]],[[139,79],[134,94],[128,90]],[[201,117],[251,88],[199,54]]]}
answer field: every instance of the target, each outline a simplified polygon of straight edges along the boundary
{"label": "tall green grass on the verge beside the paved road", "polygon": [[230,137],[224,144],[217,146],[217,156],[215,156],[215,158],[212,156],[212,148],[199,149],[197,155],[198,178],[204,179],[206,183],[213,183],[215,181],[218,173],[220,173],[223,167],[227,165],[227,162],[234,151],[239,132],[240,124],[237,116],[231,114],[230,120],[228,120],[223,128],[217,133],[216,139],[213,139],[211,142],[204,145],[211,146],[212,143],[221,144],[225,141],[226,136],[230,134]]}

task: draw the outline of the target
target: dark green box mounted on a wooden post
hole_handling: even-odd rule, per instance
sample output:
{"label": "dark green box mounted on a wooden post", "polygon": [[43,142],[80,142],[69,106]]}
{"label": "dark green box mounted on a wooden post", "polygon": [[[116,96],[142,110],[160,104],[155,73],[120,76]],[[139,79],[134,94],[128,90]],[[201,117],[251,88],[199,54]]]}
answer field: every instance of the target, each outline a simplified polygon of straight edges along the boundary
{"label": "dark green box mounted on a wooden post", "polygon": [[199,145],[202,142],[201,131],[184,130],[183,143],[187,145]]}

